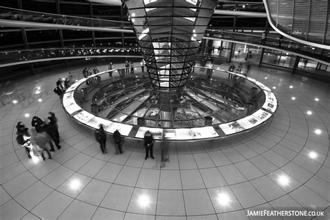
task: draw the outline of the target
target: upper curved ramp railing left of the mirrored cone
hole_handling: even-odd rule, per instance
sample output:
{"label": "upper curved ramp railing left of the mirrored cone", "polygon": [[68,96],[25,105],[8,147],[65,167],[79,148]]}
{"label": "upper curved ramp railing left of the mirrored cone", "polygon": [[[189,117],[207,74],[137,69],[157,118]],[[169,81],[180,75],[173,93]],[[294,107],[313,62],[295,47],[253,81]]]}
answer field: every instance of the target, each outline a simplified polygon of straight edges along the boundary
{"label": "upper curved ramp railing left of the mirrored cone", "polygon": [[29,10],[0,7],[0,25],[44,29],[72,29],[133,33],[129,22],[88,17],[38,13]]}

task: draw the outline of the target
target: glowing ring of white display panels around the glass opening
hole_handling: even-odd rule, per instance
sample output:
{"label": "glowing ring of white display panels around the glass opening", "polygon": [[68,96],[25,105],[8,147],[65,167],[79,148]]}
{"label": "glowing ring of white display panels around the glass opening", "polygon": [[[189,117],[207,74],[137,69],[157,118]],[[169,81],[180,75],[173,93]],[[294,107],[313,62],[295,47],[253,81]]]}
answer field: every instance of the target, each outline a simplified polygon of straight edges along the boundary
{"label": "glowing ring of white display panels around the glass opening", "polygon": [[[89,78],[95,77],[102,73],[93,74]],[[237,74],[239,77],[244,77],[241,74]],[[264,84],[256,81],[256,79],[251,79],[250,77],[246,77],[249,81],[253,82],[262,91],[265,93],[265,102],[262,104],[262,109],[258,109],[254,113],[244,118],[240,118],[239,120],[232,121],[230,123],[224,123],[219,126],[222,132],[219,132],[221,136],[223,134],[230,135],[236,134],[239,132],[246,131],[247,129],[251,129],[256,127],[262,123],[265,123],[269,118],[271,118],[278,107],[278,102],[276,96],[270,89]],[[120,134],[123,136],[129,136],[132,131],[133,125],[127,125],[123,123],[118,123],[115,121],[107,120],[104,118],[100,118],[98,116],[93,115],[93,113],[89,113],[84,109],[81,109],[79,104],[77,104],[74,100],[74,91],[77,90],[79,85],[83,84],[86,81],[86,78],[80,79],[76,83],[74,83],[63,95],[63,107],[65,111],[67,111],[70,116],[72,116],[75,120],[79,121],[88,127],[92,127],[93,129],[97,129],[100,127],[100,124],[103,125],[104,131],[108,133],[113,133],[118,129]],[[218,129],[218,128],[217,128]],[[214,137],[219,137],[218,132],[212,126],[205,127],[194,127],[194,128],[157,128],[157,127],[139,127],[136,134],[132,132],[131,135],[134,137],[143,139],[144,134],[147,131],[150,131],[156,140],[192,140],[192,139],[209,139]]]}

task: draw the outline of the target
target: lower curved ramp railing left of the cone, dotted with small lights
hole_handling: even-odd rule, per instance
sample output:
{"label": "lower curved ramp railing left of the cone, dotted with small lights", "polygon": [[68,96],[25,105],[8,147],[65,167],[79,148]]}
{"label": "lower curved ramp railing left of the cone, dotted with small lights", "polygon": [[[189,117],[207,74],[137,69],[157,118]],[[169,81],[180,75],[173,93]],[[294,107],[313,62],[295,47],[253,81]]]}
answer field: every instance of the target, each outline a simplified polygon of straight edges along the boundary
{"label": "lower curved ramp railing left of the cone, dotted with small lights", "polygon": [[83,47],[26,49],[0,52],[0,68],[9,65],[72,58],[131,56],[141,57],[137,47]]}

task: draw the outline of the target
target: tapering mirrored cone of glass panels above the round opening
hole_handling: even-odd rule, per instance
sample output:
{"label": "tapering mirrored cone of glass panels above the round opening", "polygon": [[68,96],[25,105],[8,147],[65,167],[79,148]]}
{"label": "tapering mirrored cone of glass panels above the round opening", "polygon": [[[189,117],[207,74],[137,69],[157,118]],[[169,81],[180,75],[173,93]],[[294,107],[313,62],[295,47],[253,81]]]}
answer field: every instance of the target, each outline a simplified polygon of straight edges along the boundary
{"label": "tapering mirrored cone of glass panels above the round opening", "polygon": [[152,84],[184,86],[217,0],[127,0],[125,4]]}

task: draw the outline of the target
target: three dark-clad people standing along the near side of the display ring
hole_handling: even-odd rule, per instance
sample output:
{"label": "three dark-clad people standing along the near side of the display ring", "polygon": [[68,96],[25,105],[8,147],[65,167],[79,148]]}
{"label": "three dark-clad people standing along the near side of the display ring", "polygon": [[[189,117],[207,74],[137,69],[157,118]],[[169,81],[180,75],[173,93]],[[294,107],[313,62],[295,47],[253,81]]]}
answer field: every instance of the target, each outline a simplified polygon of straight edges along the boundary
{"label": "three dark-clad people standing along the near side of the display ring", "polygon": [[[113,141],[116,143],[115,145],[115,155],[121,155],[123,154],[123,136],[121,136],[118,129],[116,129],[115,132],[113,132]],[[107,153],[107,134],[104,132],[104,127],[101,124],[100,128],[95,129],[95,140],[100,143],[100,148],[102,153]],[[148,159],[149,155],[152,159],[155,159],[153,155],[153,147],[154,147],[155,140],[151,134],[150,131],[147,131],[146,134],[144,134],[144,146],[146,148],[146,157],[145,159]]]}

